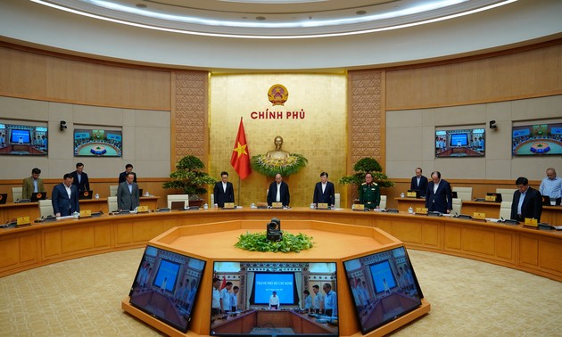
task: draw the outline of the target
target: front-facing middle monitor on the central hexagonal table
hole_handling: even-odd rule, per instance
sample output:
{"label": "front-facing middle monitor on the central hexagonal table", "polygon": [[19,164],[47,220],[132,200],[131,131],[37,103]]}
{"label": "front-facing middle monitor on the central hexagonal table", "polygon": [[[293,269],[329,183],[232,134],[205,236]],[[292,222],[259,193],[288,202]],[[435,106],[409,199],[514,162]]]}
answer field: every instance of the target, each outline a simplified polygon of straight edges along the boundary
{"label": "front-facing middle monitor on the central hexagonal table", "polygon": [[[335,262],[215,261],[213,270],[218,289],[209,294],[211,335],[339,335]],[[327,298],[325,284],[331,287]],[[324,296],[323,312],[314,310],[315,285]],[[229,299],[226,313],[217,296]]]}

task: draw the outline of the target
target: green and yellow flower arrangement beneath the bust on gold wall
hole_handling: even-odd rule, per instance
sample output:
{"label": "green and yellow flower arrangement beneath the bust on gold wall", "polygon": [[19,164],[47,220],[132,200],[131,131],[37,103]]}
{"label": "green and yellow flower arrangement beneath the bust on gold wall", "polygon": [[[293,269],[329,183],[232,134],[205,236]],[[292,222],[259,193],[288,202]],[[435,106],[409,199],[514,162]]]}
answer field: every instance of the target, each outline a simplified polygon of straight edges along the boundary
{"label": "green and yellow flower arrangement beneath the bust on gold wall", "polygon": [[288,177],[304,168],[309,160],[298,153],[291,153],[287,158],[270,158],[265,154],[258,154],[250,162],[252,169],[264,176],[275,177],[280,173],[283,177]]}

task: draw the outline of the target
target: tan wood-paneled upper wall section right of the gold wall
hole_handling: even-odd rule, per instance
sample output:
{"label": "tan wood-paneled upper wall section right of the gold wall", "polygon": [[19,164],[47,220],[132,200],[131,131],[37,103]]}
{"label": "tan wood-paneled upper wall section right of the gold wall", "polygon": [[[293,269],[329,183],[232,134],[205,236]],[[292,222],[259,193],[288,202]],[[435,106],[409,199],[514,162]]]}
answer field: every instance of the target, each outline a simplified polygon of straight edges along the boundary
{"label": "tan wood-paneled upper wall section right of the gold wall", "polygon": [[474,60],[386,71],[386,110],[491,103],[562,93],[562,40]]}

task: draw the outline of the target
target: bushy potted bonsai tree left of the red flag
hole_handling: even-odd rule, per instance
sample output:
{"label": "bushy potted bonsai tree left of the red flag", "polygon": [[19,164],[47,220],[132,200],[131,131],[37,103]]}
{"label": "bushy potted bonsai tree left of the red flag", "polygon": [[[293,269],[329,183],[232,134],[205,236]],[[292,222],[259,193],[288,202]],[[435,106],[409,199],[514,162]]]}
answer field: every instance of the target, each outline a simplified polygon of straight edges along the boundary
{"label": "bushy potted bonsai tree left of the red flag", "polygon": [[162,187],[188,194],[190,205],[201,206],[204,202],[201,194],[207,193],[203,185],[213,185],[216,182],[216,179],[203,172],[202,168],[205,168],[202,160],[187,155],[178,161],[176,170],[169,174],[169,181]]}

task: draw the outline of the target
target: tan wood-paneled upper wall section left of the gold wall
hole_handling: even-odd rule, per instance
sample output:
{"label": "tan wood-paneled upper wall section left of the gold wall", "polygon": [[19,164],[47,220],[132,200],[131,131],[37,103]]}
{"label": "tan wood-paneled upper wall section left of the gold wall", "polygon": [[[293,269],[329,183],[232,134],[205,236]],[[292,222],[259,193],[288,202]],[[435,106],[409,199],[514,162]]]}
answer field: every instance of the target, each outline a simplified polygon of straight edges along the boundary
{"label": "tan wood-paneled upper wall section left of the gold wall", "polygon": [[169,70],[82,61],[0,44],[0,95],[60,103],[170,110]]}

